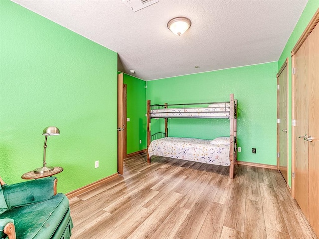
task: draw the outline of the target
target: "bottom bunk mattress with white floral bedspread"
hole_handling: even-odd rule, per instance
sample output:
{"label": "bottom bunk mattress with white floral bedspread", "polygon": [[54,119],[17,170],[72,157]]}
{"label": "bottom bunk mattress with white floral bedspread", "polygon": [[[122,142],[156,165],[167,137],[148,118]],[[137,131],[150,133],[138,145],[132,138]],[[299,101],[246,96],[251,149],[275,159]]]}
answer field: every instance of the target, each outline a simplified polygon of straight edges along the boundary
{"label": "bottom bunk mattress with white floral bedspread", "polygon": [[152,141],[148,153],[149,157],[156,155],[229,166],[229,149],[229,137],[228,144],[213,144],[212,140],[197,138],[166,137]]}

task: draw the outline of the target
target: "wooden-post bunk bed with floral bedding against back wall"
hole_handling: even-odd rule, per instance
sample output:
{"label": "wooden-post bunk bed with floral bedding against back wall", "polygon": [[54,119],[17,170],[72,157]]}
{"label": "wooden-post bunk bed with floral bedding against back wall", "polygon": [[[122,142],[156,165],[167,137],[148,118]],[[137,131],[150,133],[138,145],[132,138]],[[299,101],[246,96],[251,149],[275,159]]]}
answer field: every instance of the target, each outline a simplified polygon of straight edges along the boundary
{"label": "wooden-post bunk bed with floral bedding against back wall", "polygon": [[[165,132],[151,135],[151,119],[165,119]],[[168,137],[170,118],[229,119],[230,136],[204,140]],[[229,166],[229,177],[234,178],[237,164],[237,100],[230,94],[229,102],[151,105],[147,101],[147,162],[151,156],[163,156],[208,164]]]}

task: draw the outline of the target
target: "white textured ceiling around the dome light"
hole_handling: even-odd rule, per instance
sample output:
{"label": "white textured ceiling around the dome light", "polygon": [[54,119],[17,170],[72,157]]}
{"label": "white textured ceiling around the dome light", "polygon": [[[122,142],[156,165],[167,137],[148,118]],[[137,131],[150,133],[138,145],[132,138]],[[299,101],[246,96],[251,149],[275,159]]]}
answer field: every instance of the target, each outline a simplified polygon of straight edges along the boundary
{"label": "white textured ceiling around the dome light", "polygon": [[[160,0],[133,12],[122,0],[13,1],[118,52],[118,70],[143,80],[277,61],[307,4]],[[177,16],[192,21],[181,36],[167,28]]]}

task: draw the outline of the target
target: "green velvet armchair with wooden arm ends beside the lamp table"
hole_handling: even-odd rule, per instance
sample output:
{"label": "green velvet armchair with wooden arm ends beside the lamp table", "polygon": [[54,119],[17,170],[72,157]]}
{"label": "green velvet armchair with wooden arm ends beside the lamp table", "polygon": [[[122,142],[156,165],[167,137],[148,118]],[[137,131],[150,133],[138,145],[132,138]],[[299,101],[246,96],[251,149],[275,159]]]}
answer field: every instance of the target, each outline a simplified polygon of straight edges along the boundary
{"label": "green velvet armchair with wooden arm ends beside the lamp table", "polygon": [[7,185],[0,177],[0,239],[69,239],[69,200],[48,177]]}

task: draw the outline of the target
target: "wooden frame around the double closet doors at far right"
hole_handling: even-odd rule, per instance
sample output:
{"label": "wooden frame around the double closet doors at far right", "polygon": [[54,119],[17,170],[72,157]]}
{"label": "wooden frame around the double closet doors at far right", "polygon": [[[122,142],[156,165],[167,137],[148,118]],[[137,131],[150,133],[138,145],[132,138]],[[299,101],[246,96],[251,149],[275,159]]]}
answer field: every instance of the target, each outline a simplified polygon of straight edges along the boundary
{"label": "wooden frame around the double closet doors at far right", "polygon": [[[307,37],[309,36],[309,34],[312,32],[312,30],[315,28],[315,26],[317,25],[317,23],[319,22],[319,8],[317,9],[315,15],[313,16],[313,18],[310,20],[309,24],[307,25],[306,29],[304,30],[304,32],[302,33],[302,35],[300,36],[300,38],[298,39],[296,45],[294,46],[294,48],[291,51],[291,57],[292,57],[292,69],[295,67],[296,64],[296,60],[295,60],[295,55],[297,53],[297,51],[299,50],[299,48],[302,46],[302,44],[305,42],[305,40],[307,39]],[[296,80],[296,76],[295,74],[292,74],[292,117],[295,116],[295,103],[294,103],[294,98],[295,98],[295,94],[294,94],[294,90],[295,90],[295,82]],[[294,119],[293,119],[294,120]],[[294,123],[292,122],[292,128],[294,127]],[[292,141],[292,153],[291,153],[291,171],[292,174],[296,171],[296,165],[295,165],[295,142],[294,142],[294,138],[295,138],[295,130],[292,130],[292,136],[291,136],[291,141]],[[291,180],[291,196],[293,199],[295,199],[295,181],[294,178],[292,177]]]}

